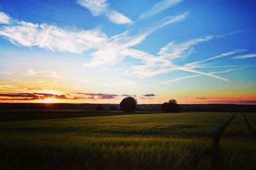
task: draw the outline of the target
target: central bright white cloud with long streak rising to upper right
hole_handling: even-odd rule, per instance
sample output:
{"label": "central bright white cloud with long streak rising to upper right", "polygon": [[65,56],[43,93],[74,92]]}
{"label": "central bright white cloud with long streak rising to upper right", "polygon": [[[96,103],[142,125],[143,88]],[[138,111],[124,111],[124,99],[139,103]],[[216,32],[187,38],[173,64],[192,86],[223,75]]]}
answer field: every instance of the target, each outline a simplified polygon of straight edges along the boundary
{"label": "central bright white cloud with long streak rising to upper right", "polygon": [[177,15],[174,17],[166,17],[163,20],[154,23],[150,28],[145,29],[144,32],[136,36],[129,36],[129,31],[118,34],[109,39],[108,43],[101,46],[97,51],[91,54],[92,60],[84,64],[84,66],[95,67],[102,64],[116,64],[116,62],[123,60],[126,56],[137,58],[138,56],[132,55],[132,46],[141,43],[152,32],[164,27],[165,25],[172,24],[184,20],[188,13]]}

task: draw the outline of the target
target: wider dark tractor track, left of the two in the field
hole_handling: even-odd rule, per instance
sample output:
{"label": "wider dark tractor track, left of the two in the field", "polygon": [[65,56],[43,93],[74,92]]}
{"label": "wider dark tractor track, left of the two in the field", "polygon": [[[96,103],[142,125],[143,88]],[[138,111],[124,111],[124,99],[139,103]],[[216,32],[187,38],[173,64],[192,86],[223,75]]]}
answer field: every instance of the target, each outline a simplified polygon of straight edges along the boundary
{"label": "wider dark tractor track, left of the two in the field", "polygon": [[207,157],[207,156],[211,158],[211,169],[214,169],[214,170],[221,169],[220,148],[219,148],[221,134],[225,130],[225,128],[228,126],[228,124],[230,124],[230,122],[235,117],[236,117],[236,114],[228,118],[227,122],[221,125],[221,127],[218,129],[216,134],[214,134],[214,136],[212,137],[213,147],[209,150],[205,150],[204,153],[196,153],[193,159],[184,166],[184,169],[191,169],[191,170],[197,169],[200,160],[202,160],[204,157]]}

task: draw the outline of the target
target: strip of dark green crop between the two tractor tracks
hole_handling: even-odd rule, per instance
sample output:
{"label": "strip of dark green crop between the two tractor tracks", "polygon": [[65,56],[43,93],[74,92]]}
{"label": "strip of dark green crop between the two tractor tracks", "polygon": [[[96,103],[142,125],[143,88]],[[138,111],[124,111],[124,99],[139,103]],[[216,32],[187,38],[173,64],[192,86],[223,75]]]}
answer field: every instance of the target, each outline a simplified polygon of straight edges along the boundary
{"label": "strip of dark green crop between the two tractor tracks", "polygon": [[248,130],[243,115],[237,113],[223,131],[220,141],[223,169],[256,169],[256,141]]}

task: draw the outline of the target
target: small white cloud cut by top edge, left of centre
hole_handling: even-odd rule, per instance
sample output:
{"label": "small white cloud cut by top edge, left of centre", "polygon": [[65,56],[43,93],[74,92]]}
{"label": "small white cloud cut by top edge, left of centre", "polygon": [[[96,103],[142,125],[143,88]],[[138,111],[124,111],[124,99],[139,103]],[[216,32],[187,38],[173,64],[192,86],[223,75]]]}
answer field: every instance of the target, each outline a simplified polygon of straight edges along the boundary
{"label": "small white cloud cut by top edge, left of centre", "polygon": [[131,19],[113,10],[106,0],[77,0],[77,3],[91,11],[93,16],[106,15],[115,24],[131,24]]}

